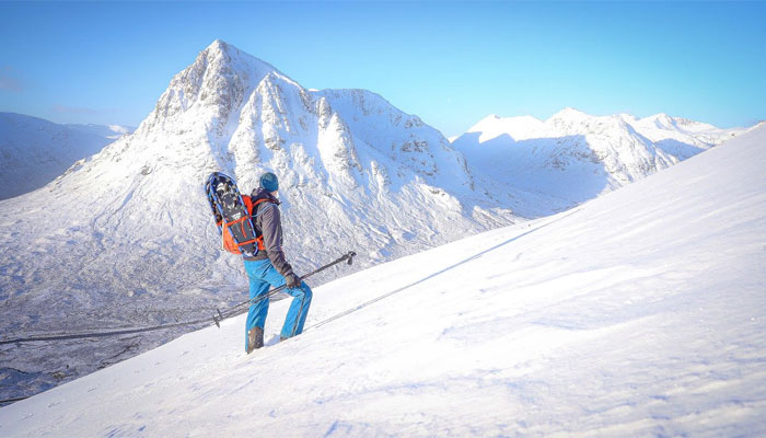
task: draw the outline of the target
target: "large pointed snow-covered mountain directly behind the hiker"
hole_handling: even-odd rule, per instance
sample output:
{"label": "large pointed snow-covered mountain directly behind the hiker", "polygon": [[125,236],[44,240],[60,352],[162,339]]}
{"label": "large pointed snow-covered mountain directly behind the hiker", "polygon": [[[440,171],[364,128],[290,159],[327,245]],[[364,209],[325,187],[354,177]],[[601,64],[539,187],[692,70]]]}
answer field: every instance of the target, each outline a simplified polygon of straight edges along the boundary
{"label": "large pointed snow-covered mountain directly behind the hiker", "polygon": [[[220,250],[204,181],[223,171],[249,193],[266,170],[280,177],[298,273],[349,250],[359,253],[355,268],[371,266],[514,220],[417,116],[368,91],[306,90],[217,41],[132,135],[0,203],[0,331],[146,325],[241,300],[242,262]],[[86,373],[148,348],[144,341],[78,344],[68,369],[54,349],[23,349],[0,377],[55,384],[51,376]]]}

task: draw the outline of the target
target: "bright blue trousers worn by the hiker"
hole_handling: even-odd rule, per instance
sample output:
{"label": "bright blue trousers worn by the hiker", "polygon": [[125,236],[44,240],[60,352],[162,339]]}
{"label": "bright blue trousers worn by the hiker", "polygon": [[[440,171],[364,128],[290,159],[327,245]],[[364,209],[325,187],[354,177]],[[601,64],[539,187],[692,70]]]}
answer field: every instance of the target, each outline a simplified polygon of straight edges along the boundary
{"label": "bright blue trousers worn by the hiker", "polygon": [[[277,272],[268,258],[262,261],[244,261],[244,263],[247,277],[249,278],[251,300],[266,295],[271,286],[277,288],[287,283],[285,277]],[[312,293],[311,288],[309,288],[305,281],[301,281],[301,287],[299,288],[285,289],[285,291],[294,297],[287,318],[285,319],[282,332],[280,333],[281,337],[287,338],[300,335],[303,332],[303,324],[309,314]],[[247,313],[247,323],[245,324],[245,346],[247,345],[247,332],[255,326],[264,328],[266,325],[268,301],[268,298],[266,298],[251,304],[249,312]]]}

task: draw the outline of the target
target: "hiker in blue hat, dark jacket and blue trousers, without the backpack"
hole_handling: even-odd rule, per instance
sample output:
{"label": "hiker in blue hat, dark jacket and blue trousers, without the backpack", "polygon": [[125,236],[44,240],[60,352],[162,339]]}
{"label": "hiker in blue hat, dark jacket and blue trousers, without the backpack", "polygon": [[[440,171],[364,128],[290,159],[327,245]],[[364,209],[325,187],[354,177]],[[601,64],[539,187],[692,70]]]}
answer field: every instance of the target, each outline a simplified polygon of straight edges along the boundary
{"label": "hiker in blue hat, dark jacket and blue trousers, without the backpack", "polygon": [[[282,224],[279,216],[279,200],[277,192],[279,181],[277,175],[266,172],[260,176],[260,186],[253,191],[253,224],[258,238],[258,253],[255,256],[245,256],[244,264],[249,278],[251,300],[265,296],[269,287],[287,285],[286,291],[293,297],[290,310],[285,319],[285,325],[280,333],[280,341],[299,335],[303,332],[303,324],[311,306],[312,292],[309,286],[292,270],[282,251]],[[254,349],[264,346],[264,326],[268,313],[269,299],[265,298],[252,304],[247,313],[246,346],[251,354]]]}

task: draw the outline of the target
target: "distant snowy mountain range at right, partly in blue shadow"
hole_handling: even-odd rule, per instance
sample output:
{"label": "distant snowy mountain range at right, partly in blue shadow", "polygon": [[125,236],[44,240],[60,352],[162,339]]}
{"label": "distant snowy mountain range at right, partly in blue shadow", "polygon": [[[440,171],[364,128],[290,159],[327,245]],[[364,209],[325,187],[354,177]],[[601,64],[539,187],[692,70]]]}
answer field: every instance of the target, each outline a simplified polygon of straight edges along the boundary
{"label": "distant snowy mountain range at right, partly in blue shadow", "polygon": [[[658,114],[590,116],[566,108],[547,120],[491,115],[452,145],[479,183],[538,191],[567,207],[640,180],[746,129]],[[560,204],[561,206],[559,206]]]}

